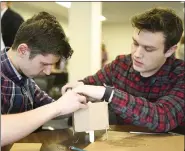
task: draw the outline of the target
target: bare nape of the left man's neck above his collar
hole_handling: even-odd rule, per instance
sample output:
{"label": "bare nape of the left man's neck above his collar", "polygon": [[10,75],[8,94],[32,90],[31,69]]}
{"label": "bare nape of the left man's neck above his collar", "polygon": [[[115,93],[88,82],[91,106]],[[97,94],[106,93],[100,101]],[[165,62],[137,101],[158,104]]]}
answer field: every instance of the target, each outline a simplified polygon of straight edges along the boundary
{"label": "bare nape of the left man's neck above his collar", "polygon": [[17,57],[17,51],[12,50],[12,48],[10,48],[7,52],[7,56],[9,58],[10,62],[12,63],[12,65],[14,66],[14,68],[19,72],[20,68],[19,68],[19,60]]}

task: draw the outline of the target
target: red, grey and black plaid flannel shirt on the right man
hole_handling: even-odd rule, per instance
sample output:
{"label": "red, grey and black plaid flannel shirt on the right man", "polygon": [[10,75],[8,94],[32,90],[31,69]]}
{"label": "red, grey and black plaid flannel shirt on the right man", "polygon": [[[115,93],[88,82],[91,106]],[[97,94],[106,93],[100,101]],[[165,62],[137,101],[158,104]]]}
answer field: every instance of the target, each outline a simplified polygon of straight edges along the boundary
{"label": "red, grey and black plaid flannel shirt on the right man", "polygon": [[185,123],[184,67],[184,61],[172,56],[156,74],[144,78],[133,69],[131,55],[121,55],[82,81],[115,88],[109,105],[123,123],[164,132]]}

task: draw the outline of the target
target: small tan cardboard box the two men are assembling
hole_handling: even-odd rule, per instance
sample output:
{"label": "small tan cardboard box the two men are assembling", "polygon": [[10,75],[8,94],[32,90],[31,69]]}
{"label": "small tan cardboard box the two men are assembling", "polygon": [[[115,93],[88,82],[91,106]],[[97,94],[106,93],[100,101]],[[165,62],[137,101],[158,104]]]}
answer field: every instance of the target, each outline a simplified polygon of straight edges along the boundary
{"label": "small tan cardboard box the two men are assembling", "polygon": [[75,132],[108,129],[108,103],[89,102],[87,109],[80,109],[73,114],[73,127]]}

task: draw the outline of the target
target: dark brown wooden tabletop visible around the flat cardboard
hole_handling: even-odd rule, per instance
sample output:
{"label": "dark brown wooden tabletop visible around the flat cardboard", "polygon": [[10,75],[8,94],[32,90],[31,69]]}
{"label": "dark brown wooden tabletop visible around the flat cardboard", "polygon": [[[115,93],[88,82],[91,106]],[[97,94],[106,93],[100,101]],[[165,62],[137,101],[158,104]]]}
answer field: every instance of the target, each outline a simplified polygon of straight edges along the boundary
{"label": "dark brown wooden tabletop visible around the flat cardboard", "polygon": [[[110,130],[113,131],[142,131],[150,132],[143,127],[131,126],[131,125],[112,125]],[[101,137],[105,133],[105,130],[95,131],[95,139]],[[27,137],[21,139],[17,143],[42,143],[41,151],[56,151],[52,146],[65,147],[68,150],[69,146],[76,146],[79,148],[85,148],[89,145],[88,136],[86,133],[75,133],[73,135],[72,129],[61,129],[53,131],[40,131],[32,133]],[[2,151],[9,151],[12,145],[1,148]],[[56,147],[55,147],[56,148]]]}

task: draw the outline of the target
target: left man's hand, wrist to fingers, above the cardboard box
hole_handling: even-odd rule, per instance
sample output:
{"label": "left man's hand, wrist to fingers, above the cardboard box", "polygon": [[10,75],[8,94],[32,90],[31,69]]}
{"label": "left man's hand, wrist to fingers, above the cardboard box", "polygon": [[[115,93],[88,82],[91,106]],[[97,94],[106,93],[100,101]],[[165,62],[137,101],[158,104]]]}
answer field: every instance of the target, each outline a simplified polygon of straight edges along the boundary
{"label": "left man's hand, wrist to fingers, above the cardboard box", "polygon": [[69,114],[80,108],[87,108],[86,97],[72,90],[68,90],[54,103],[56,103],[56,109],[59,115]]}

